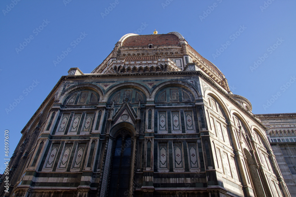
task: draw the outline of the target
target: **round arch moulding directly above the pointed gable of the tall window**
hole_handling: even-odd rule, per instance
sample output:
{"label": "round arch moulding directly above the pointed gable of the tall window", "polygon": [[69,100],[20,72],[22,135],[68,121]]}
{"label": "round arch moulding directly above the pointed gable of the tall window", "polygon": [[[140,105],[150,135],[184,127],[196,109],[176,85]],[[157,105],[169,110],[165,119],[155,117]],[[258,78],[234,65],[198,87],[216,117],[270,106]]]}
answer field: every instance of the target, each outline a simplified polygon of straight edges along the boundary
{"label": "round arch moulding directly above the pointed gable of the tall window", "polygon": [[109,96],[112,93],[114,93],[116,90],[118,90],[120,88],[128,88],[128,87],[132,87],[132,88],[136,88],[138,90],[141,90],[142,92],[144,92],[146,94],[147,100],[150,98],[150,92],[144,85],[141,85],[139,83],[134,83],[134,82],[126,82],[126,83],[117,84],[117,85],[113,86],[112,88],[110,88],[109,90],[107,90],[102,101],[107,102],[109,99]]}

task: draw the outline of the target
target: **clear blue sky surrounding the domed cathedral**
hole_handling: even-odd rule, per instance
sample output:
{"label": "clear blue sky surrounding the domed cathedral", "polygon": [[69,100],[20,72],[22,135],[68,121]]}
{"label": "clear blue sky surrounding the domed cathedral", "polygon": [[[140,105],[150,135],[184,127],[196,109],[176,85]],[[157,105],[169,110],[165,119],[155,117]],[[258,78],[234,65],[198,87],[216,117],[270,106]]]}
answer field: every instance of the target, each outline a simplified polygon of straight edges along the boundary
{"label": "clear blue sky surrounding the domed cathedral", "polygon": [[[111,11],[104,13],[108,7]],[[0,136],[4,139],[4,130],[9,130],[9,157],[20,140],[20,131],[59,78],[71,67],[90,73],[123,35],[135,31],[181,33],[223,72],[234,94],[250,100],[253,113],[296,112],[293,0],[2,0],[0,9]],[[71,45],[81,32],[87,34],[85,38]],[[23,42],[27,42],[24,47],[20,46]],[[227,48],[220,54],[221,45]],[[68,47],[71,52],[55,66],[53,61]],[[255,68],[254,61],[261,64]],[[34,80],[38,85],[30,87]],[[7,114],[5,109],[20,96],[22,100]],[[274,102],[267,106],[267,100]],[[4,151],[1,154],[0,158],[4,157]]]}

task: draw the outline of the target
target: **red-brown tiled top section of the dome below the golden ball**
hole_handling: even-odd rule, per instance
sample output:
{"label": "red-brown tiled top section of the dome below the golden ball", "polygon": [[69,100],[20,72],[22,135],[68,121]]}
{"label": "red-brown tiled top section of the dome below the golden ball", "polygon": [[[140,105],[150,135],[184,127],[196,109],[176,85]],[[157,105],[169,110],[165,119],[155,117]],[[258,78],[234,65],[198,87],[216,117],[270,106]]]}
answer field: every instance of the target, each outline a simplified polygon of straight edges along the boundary
{"label": "red-brown tiled top section of the dome below the golden ball", "polygon": [[180,45],[179,38],[175,34],[151,34],[129,36],[123,41],[122,47],[148,47],[160,45]]}

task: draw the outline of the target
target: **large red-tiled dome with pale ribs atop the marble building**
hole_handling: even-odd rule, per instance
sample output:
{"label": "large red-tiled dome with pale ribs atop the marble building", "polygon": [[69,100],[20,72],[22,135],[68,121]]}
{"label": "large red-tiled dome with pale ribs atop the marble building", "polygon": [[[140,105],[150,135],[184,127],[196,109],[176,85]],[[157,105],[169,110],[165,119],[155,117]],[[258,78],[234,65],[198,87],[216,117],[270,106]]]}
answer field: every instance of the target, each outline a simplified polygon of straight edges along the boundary
{"label": "large red-tiled dome with pale ribs atop the marble building", "polygon": [[[140,65],[144,63],[146,64]],[[230,92],[227,80],[217,66],[202,57],[176,31],[168,34],[126,34],[122,36],[115,44],[112,53],[94,69],[92,74],[133,73],[139,72],[140,67],[146,67],[144,72],[150,72],[151,70],[154,72],[189,71],[188,63],[195,63],[198,67],[197,70],[205,72],[208,77],[218,82],[223,89],[228,93]],[[168,66],[168,69],[164,69],[167,67],[165,65]]]}

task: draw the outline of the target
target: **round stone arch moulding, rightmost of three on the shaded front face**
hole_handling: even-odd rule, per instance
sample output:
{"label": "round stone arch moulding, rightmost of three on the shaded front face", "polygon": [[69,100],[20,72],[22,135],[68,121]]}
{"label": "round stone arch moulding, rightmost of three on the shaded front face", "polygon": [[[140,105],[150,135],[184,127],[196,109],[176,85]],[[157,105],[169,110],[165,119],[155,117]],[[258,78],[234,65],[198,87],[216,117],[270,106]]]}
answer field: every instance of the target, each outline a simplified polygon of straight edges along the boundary
{"label": "round stone arch moulding, rightmost of three on the shaded front face", "polygon": [[185,83],[185,82],[182,82],[182,81],[167,81],[167,82],[163,82],[163,83],[157,85],[157,87],[152,90],[152,92],[151,92],[151,100],[152,101],[155,100],[154,97],[155,97],[156,93],[160,89],[165,88],[167,86],[171,86],[171,85],[176,85],[176,86],[179,86],[179,87],[182,87],[182,88],[185,88],[185,89],[189,90],[194,95],[194,99],[198,99],[198,97],[199,97],[198,91],[192,85],[190,85],[188,83]]}

